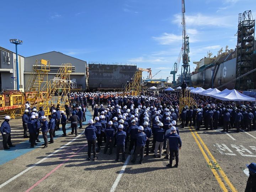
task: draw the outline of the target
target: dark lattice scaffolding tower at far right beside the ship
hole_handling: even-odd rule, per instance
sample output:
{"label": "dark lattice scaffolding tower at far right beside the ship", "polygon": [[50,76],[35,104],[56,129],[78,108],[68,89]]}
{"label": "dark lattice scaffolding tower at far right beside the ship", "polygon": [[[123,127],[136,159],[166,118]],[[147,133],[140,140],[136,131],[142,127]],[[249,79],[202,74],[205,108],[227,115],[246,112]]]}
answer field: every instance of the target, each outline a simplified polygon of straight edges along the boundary
{"label": "dark lattice scaffolding tower at far right beside the ship", "polygon": [[[239,14],[238,40],[236,55],[236,78],[244,75],[253,69],[252,54],[254,52],[255,20],[251,11]],[[254,89],[252,73],[236,80],[235,89]]]}

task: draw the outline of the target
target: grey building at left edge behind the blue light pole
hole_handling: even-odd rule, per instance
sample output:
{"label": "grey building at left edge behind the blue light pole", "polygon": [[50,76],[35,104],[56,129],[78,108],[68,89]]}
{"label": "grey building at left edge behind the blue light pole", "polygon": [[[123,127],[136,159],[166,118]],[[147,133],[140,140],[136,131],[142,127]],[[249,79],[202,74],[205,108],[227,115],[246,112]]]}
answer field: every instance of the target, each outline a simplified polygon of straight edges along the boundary
{"label": "grey building at left edge behind the blue light pole", "polygon": [[[18,55],[20,90],[24,91],[24,57]],[[16,54],[0,47],[0,90],[16,90]]]}

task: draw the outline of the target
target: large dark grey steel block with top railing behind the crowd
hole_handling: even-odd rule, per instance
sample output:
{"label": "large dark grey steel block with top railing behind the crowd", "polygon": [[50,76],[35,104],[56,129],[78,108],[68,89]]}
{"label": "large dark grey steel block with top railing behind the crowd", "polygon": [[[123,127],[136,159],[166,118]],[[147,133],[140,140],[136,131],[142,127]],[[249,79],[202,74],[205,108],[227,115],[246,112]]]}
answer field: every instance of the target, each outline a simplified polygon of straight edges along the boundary
{"label": "large dark grey steel block with top railing behind the crowd", "polygon": [[122,90],[135,71],[136,64],[89,62],[89,89]]}

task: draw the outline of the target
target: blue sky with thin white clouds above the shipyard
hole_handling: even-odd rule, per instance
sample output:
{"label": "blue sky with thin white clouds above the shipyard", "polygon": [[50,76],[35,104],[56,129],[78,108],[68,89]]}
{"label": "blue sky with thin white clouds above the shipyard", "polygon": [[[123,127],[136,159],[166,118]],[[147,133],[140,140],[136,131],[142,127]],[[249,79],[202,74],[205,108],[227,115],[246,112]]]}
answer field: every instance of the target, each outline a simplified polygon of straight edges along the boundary
{"label": "blue sky with thin white clouds above the shipyard", "polygon": [[[236,45],[238,14],[255,0],[185,0],[191,71]],[[1,4],[0,46],[25,57],[52,50],[88,61],[137,63],[166,78],[182,46],[181,0],[12,0]],[[16,22],[17,21],[17,22]],[[181,64],[178,73],[180,73]],[[147,73],[143,72],[146,77]]]}

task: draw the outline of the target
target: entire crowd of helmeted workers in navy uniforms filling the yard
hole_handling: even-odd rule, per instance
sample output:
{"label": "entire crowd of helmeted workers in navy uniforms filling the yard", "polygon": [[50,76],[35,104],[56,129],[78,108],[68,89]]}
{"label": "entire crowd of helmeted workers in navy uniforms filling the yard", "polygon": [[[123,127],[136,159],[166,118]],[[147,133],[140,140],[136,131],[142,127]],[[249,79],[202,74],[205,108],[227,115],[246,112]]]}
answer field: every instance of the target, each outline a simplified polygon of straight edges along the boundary
{"label": "entire crowd of helmeted workers in navy uniforms filling the yard", "polygon": [[[29,132],[31,147],[39,141],[38,135],[41,129],[44,144],[54,143],[55,131],[62,124],[63,137],[66,136],[66,123],[71,124],[71,134],[78,135],[78,126],[82,128],[82,122],[86,121],[86,108],[92,107],[93,118],[88,121],[85,135],[88,142],[88,160],[96,160],[96,153],[100,152],[103,142],[103,153],[112,154],[113,148],[117,148],[116,160],[119,161],[119,151],[122,152],[122,160],[125,161],[125,153],[132,153],[134,149],[135,163],[137,155],[140,155],[139,163],[142,164],[144,150],[146,155],[150,151],[155,158],[161,158],[163,149],[165,158],[169,159],[168,166],[172,167],[172,160],[176,159],[178,166],[178,151],[181,148],[178,120],[181,128],[196,126],[200,130],[218,129],[223,126],[223,132],[235,128],[251,131],[256,128],[256,106],[254,103],[219,103],[215,100],[194,96],[197,105],[179,106],[179,91],[147,91],[141,96],[121,96],[122,92],[75,92],[66,100],[65,111],[53,105],[50,108],[52,114],[44,116],[43,108],[39,110],[31,108],[26,103],[26,109],[22,116],[24,128],[23,136],[27,138]],[[180,110],[180,107],[182,109]],[[66,115],[65,115],[66,114]],[[6,116],[0,131],[3,135],[3,146],[9,149],[10,117]],[[50,135],[48,142],[47,134]],[[152,143],[151,150],[149,144]],[[7,146],[9,145],[9,147]],[[93,158],[91,158],[91,149]]]}

